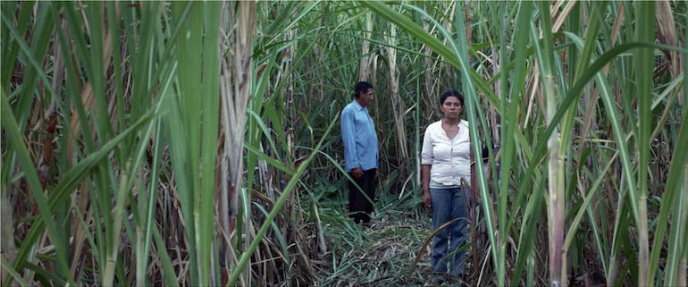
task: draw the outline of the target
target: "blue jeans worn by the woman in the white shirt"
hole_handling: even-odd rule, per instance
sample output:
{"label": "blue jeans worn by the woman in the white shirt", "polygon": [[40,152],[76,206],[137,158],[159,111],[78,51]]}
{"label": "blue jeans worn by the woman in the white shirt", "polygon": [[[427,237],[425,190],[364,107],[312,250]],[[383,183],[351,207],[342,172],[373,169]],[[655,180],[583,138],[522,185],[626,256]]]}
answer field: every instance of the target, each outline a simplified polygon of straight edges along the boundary
{"label": "blue jeans worn by the woman in the white shirt", "polygon": [[432,239],[432,270],[460,276],[464,272],[466,251],[457,252],[466,240],[468,215],[461,188],[430,189],[432,230],[454,218],[457,222],[443,229]]}

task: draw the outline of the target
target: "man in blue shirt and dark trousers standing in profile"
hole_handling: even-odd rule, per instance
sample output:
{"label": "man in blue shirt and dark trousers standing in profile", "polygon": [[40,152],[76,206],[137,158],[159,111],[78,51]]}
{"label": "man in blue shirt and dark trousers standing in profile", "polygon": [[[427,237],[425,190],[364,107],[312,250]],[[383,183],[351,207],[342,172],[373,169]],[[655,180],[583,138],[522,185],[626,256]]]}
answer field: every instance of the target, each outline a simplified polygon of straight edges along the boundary
{"label": "man in blue shirt and dark trousers standing in profile", "polygon": [[373,98],[373,85],[360,81],[354,100],[341,111],[345,170],[355,181],[348,183],[348,216],[357,224],[370,222],[377,185],[377,134],[366,107]]}

